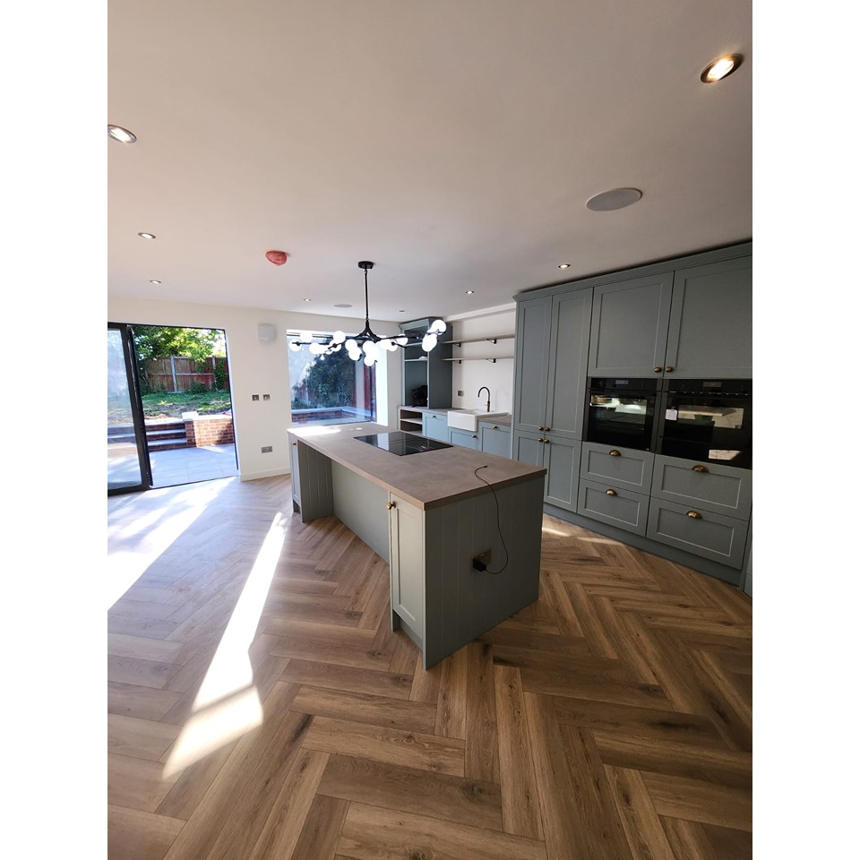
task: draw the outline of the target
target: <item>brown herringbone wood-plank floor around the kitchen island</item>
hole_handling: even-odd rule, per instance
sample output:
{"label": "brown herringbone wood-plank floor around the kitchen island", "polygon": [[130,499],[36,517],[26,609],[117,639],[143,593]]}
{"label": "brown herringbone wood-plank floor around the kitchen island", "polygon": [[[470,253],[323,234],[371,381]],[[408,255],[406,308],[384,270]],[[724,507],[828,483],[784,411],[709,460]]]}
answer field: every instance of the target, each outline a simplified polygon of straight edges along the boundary
{"label": "brown herringbone wood-plank floor around the kitchen island", "polygon": [[288,478],[108,502],[110,860],[753,855],[738,589],[545,517],[538,602],[425,671]]}

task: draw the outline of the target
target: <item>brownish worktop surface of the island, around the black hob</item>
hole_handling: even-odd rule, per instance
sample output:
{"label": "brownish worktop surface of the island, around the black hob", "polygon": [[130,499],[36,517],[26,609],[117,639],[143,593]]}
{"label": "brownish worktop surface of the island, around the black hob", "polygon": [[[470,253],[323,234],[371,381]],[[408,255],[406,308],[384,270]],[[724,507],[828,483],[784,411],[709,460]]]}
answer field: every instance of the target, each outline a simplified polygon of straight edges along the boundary
{"label": "brownish worktop surface of the island, around the black hob", "polygon": [[[300,439],[330,460],[419,508],[434,508],[486,493],[487,484],[510,486],[546,474],[546,469],[495,454],[472,451],[460,445],[399,457],[354,438],[394,433],[397,429],[380,424],[341,424],[291,427],[288,433],[292,437],[291,442]],[[476,477],[475,469],[479,466],[487,468],[480,469],[477,473],[480,477]]]}

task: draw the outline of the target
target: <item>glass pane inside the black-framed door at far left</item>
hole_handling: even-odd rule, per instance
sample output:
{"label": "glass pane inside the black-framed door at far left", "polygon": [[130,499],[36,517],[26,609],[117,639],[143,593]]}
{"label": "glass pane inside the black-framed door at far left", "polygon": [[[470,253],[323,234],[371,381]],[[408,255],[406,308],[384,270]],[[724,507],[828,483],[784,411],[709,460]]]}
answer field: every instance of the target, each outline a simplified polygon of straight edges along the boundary
{"label": "glass pane inside the black-framed door at far left", "polygon": [[132,398],[125,372],[123,336],[107,330],[107,489],[141,486],[141,461],[134,435]]}

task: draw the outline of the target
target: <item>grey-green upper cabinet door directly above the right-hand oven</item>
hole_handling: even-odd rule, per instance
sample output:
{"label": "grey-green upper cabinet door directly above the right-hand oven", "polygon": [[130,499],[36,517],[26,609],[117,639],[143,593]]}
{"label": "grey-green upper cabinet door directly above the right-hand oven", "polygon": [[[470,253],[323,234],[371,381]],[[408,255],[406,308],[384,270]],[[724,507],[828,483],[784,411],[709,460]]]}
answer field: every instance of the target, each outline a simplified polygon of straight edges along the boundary
{"label": "grey-green upper cabinet door directly above the right-hand oven", "polygon": [[675,272],[666,364],[674,376],[753,378],[753,258]]}

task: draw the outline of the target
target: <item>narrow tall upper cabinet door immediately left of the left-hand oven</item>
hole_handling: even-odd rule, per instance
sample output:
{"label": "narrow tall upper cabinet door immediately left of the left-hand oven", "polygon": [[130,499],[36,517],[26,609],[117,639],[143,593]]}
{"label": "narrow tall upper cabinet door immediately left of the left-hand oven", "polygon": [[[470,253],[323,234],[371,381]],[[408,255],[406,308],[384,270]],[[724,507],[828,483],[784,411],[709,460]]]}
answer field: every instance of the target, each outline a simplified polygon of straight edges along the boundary
{"label": "narrow tall upper cabinet door immediately left of the left-hand oven", "polygon": [[582,438],[591,294],[578,289],[553,297],[546,432],[561,439]]}

